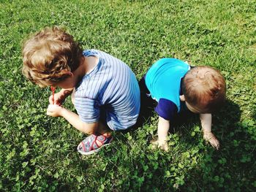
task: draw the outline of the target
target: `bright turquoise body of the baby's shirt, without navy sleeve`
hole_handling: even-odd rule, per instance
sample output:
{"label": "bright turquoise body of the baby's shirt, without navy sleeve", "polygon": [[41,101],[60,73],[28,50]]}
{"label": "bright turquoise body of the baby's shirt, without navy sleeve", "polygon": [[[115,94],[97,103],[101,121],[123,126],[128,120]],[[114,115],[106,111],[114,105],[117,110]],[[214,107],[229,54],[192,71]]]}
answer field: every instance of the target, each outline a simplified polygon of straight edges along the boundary
{"label": "bright turquoise body of the baby's shirt, without navy sleeve", "polygon": [[189,71],[190,66],[176,58],[162,58],[151,66],[145,78],[146,86],[151,97],[167,99],[176,104],[178,112],[181,110],[181,78]]}

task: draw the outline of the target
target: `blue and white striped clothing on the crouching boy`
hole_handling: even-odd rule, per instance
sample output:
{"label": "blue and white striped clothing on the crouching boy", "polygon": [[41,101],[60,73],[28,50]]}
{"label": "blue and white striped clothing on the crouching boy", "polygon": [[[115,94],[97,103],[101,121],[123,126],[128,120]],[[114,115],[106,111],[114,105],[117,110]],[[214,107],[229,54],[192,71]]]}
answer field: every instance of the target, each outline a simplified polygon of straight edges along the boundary
{"label": "blue and white striped clothing on the crouching boy", "polygon": [[85,50],[83,55],[99,58],[97,66],[75,88],[75,109],[85,123],[99,118],[113,130],[129,128],[140,112],[140,89],[132,70],[108,53]]}

